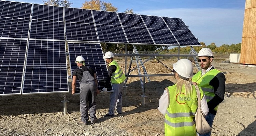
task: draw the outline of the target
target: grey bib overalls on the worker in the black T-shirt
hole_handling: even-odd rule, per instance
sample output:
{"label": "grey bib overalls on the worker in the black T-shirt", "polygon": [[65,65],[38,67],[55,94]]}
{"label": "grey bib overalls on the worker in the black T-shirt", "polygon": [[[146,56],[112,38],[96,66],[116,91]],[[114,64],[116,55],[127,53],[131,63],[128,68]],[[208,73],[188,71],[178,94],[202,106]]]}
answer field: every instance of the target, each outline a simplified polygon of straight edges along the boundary
{"label": "grey bib overalls on the worker in the black T-shirt", "polygon": [[[91,76],[89,71],[83,71],[83,77],[80,81],[80,112],[81,112],[81,120],[83,122],[88,122],[88,108],[89,108],[89,116],[90,120],[94,121],[96,119],[96,90],[97,85],[94,77]],[[87,66],[89,70],[89,67]],[[88,105],[87,105],[88,102]]]}

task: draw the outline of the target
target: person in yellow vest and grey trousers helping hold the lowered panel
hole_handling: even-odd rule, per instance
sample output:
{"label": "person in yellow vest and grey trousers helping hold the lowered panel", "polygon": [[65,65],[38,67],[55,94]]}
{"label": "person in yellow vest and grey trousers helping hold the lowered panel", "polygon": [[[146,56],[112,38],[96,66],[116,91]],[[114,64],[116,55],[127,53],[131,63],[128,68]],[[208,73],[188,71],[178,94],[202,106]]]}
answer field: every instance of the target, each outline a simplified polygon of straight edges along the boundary
{"label": "person in yellow vest and grey trousers helping hold the lowered panel", "polygon": [[114,91],[110,95],[109,113],[104,115],[104,117],[113,117],[115,115],[115,108],[118,114],[122,114],[122,91],[126,77],[117,62],[113,60],[113,57],[114,55],[110,51],[106,52],[105,56],[103,56],[105,62],[109,64],[109,67],[108,78],[106,79],[105,86],[101,91],[103,91],[104,94],[107,94],[107,87],[110,82],[112,83]]}

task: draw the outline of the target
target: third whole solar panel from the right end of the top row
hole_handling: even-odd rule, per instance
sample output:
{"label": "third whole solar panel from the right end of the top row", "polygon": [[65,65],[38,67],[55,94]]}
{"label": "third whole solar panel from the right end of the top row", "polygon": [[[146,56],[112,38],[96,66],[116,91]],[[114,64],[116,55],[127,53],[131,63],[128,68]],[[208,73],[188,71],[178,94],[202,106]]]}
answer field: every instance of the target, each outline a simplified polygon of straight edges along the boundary
{"label": "third whole solar panel from the right end of the top row", "polygon": [[118,13],[129,44],[155,44],[138,14]]}

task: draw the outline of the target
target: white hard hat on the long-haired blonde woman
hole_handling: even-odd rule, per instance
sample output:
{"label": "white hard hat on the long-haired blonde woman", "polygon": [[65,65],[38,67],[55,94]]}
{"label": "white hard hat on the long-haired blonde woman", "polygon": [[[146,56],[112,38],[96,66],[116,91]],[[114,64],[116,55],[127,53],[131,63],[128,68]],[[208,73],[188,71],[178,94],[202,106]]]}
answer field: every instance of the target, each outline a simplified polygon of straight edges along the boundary
{"label": "white hard hat on the long-haired blonde woman", "polygon": [[191,78],[193,76],[192,62],[186,58],[183,58],[173,65],[173,69],[184,78]]}

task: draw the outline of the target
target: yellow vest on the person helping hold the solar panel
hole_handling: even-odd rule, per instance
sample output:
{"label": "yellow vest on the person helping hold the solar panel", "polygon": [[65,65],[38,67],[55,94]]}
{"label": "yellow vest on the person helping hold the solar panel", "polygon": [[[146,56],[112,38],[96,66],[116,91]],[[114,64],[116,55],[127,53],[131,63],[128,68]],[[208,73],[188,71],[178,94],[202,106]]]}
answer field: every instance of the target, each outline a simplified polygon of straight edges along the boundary
{"label": "yellow vest on the person helping hold the solar panel", "polygon": [[116,66],[116,71],[112,73],[111,76],[111,83],[112,84],[120,84],[123,83],[126,79],[125,74],[123,73],[122,69],[120,66],[117,64],[116,61],[112,61],[109,66],[115,65]]}

